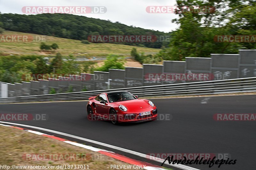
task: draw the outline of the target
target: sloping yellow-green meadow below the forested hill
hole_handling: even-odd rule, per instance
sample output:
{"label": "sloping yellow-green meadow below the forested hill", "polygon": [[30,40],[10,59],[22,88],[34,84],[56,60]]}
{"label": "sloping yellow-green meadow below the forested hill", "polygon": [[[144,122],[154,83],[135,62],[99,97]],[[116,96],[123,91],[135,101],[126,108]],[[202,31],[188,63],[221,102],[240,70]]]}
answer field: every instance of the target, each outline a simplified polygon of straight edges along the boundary
{"label": "sloping yellow-green meadow below the forested hill", "polygon": [[[2,36],[5,35],[26,35],[28,36],[28,42],[6,42],[2,39]],[[39,46],[42,41],[34,41],[35,37],[41,37],[45,39],[47,45],[52,43],[57,43],[59,49],[56,51],[42,51]],[[34,39],[33,39],[34,37]],[[78,58],[84,57],[104,57],[108,54],[117,54],[130,56],[130,52],[134,46],[121,45],[121,44],[110,44],[110,43],[91,43],[91,44],[82,44],[81,41],[71,40],[65,38],[58,38],[52,36],[37,35],[31,33],[20,33],[13,31],[4,31],[0,35],[0,55],[54,55],[57,52],[60,52],[62,55],[73,54]],[[139,53],[144,52],[145,54],[156,54],[160,49],[155,48],[143,48],[136,47]],[[80,54],[79,54],[80,53]]]}

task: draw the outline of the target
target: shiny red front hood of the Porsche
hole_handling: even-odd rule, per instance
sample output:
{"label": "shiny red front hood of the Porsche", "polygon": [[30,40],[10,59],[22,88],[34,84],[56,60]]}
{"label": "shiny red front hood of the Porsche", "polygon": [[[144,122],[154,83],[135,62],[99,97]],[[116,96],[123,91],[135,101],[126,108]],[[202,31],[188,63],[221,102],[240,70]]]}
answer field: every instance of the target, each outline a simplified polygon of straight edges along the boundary
{"label": "shiny red front hood of the Porsche", "polygon": [[145,109],[149,107],[148,100],[143,100],[143,99],[118,101],[116,102],[116,104],[124,105],[128,109],[132,109],[132,110]]}

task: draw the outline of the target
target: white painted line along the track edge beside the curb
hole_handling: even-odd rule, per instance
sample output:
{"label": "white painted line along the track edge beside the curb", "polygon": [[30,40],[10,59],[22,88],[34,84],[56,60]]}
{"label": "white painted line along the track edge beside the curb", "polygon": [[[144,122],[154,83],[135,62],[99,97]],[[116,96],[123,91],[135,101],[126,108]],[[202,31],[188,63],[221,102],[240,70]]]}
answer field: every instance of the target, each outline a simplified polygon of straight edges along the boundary
{"label": "white painted line along the track edge beside the curb", "polygon": [[[30,126],[30,125],[18,124],[18,123],[11,123],[11,122],[2,122],[2,121],[0,121],[0,123],[6,123],[6,124],[17,125],[17,126],[23,126],[23,127],[27,127],[27,128],[43,130],[43,131],[47,131],[47,132],[50,132],[50,133],[55,133],[55,134],[66,136],[66,137],[72,137],[72,138],[83,140],[83,141],[90,142],[90,143],[93,143],[93,144],[98,144],[98,145],[105,146],[105,147],[108,147],[108,148],[116,149],[118,151],[130,153],[130,154],[133,154],[133,155],[136,155],[136,156],[139,156],[139,157],[142,157],[142,158],[146,158],[146,159],[151,159],[151,160],[154,160],[154,161],[157,161],[157,162],[161,162],[161,163],[164,162],[164,159],[156,158],[156,157],[153,157],[153,156],[150,156],[150,155],[146,155],[144,153],[131,151],[131,150],[124,149],[124,148],[121,148],[121,147],[118,147],[118,146],[105,144],[105,143],[102,143],[102,142],[94,141],[94,140],[91,140],[91,139],[86,139],[86,138],[83,138],[83,137],[78,137],[78,136],[75,136],[75,135],[70,135],[70,134],[67,134],[67,133],[63,133],[63,132],[59,132],[59,131],[55,131],[55,130],[51,130],[51,129],[44,129],[44,128],[40,128],[40,127],[36,127],[36,126]],[[170,165],[170,166],[173,166],[173,167],[177,167],[177,168],[180,168],[180,169],[183,169],[183,170],[199,170],[199,169],[196,169],[196,168],[193,168],[193,167],[190,167],[190,166],[186,166],[186,165],[182,165],[182,164],[169,164],[168,161],[165,161],[164,164]]]}

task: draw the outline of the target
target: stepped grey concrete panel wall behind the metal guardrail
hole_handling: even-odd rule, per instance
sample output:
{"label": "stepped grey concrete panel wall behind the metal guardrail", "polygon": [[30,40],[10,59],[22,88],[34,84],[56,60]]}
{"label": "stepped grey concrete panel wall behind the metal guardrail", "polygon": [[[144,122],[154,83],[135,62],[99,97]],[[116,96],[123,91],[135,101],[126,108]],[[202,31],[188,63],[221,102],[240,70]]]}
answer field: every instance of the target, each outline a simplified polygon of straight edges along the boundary
{"label": "stepped grey concrete panel wall behind the metal guardrail", "polygon": [[[201,79],[197,79],[199,77]],[[4,96],[8,93],[8,97],[49,94],[52,88],[56,93],[81,92],[248,77],[256,77],[256,50],[212,54],[211,58],[186,57],[186,62],[164,61],[163,65],[143,64],[143,68],[109,69],[109,72],[94,71],[94,74],[81,73],[80,76],[39,79],[22,84],[0,82],[3,84],[0,97],[3,93]]]}

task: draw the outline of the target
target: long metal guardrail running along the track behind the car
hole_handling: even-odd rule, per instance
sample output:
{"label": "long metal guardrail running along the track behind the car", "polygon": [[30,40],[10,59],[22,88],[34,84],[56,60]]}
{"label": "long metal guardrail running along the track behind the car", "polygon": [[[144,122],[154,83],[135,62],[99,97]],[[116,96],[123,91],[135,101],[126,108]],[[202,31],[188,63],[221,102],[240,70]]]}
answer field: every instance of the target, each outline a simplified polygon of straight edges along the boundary
{"label": "long metal guardrail running along the track behind the car", "polygon": [[180,96],[180,95],[204,95],[220,94],[232,92],[256,92],[256,77],[236,78],[228,80],[215,80],[170,85],[154,85],[131,87],[122,89],[97,90],[88,92],[73,92],[46,94],[37,96],[20,96],[0,98],[0,103],[18,102],[39,102],[39,101],[58,101],[58,100],[88,100],[89,97],[98,95],[102,92],[126,90],[134,95],[143,97],[151,96]]}

